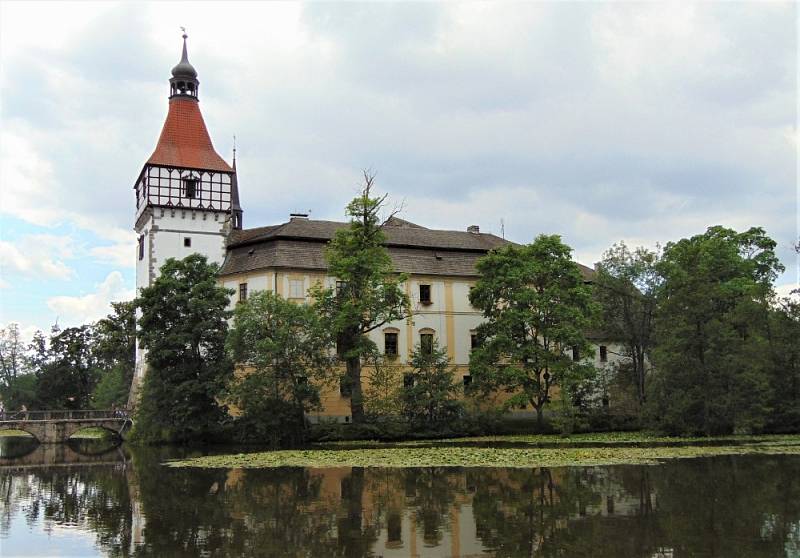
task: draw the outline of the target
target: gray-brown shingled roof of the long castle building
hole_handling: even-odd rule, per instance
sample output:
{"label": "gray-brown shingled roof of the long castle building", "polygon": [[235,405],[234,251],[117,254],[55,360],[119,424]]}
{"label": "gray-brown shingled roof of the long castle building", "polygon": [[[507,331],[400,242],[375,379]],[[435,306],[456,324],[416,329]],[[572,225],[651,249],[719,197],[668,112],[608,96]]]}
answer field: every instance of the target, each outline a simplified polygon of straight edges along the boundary
{"label": "gray-brown shingled roof of the long castle building", "polygon": [[[265,268],[325,271],[325,245],[347,223],[292,219],[288,223],[232,231],[220,275]],[[477,277],[475,264],[489,250],[508,244],[493,234],[426,229],[393,218],[384,225],[394,269],[417,275]],[[592,271],[580,266],[584,277]]]}

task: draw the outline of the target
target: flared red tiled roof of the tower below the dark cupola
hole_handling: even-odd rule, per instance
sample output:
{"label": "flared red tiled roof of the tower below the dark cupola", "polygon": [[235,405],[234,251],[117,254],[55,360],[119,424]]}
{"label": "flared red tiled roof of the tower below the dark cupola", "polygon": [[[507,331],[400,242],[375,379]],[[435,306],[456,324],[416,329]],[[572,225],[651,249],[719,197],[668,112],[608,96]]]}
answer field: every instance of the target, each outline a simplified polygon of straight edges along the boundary
{"label": "flared red tiled roof of the tower below the dark cupola", "polygon": [[180,97],[169,100],[167,120],[147,163],[233,172],[214,151],[198,102]]}

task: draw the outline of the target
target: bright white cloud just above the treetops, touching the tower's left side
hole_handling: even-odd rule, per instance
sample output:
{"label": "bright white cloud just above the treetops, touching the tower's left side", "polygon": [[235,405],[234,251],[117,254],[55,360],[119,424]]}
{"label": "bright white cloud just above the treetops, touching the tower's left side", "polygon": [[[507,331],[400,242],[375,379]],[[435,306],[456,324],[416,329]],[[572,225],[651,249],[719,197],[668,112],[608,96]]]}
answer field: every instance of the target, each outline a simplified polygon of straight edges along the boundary
{"label": "bright white cloud just above the treetops, touching the tower's left side", "polygon": [[59,324],[77,325],[97,321],[111,312],[111,303],[131,300],[134,289],[128,289],[119,271],[112,271],[96,286],[95,292],[83,296],[54,296],[47,306],[59,320]]}

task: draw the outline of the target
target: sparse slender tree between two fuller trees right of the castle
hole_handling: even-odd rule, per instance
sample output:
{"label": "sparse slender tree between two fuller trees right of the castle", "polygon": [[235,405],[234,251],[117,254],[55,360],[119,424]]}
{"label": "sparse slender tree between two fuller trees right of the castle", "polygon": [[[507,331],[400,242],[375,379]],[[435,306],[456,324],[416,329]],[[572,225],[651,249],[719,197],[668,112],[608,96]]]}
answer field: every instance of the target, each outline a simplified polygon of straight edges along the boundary
{"label": "sparse slender tree between two fuller trees right of the castle", "polygon": [[655,341],[656,293],[661,283],[658,258],[657,252],[642,247],[631,251],[620,242],[603,254],[594,277],[603,333],[623,345],[640,406],[647,393],[648,360]]}

